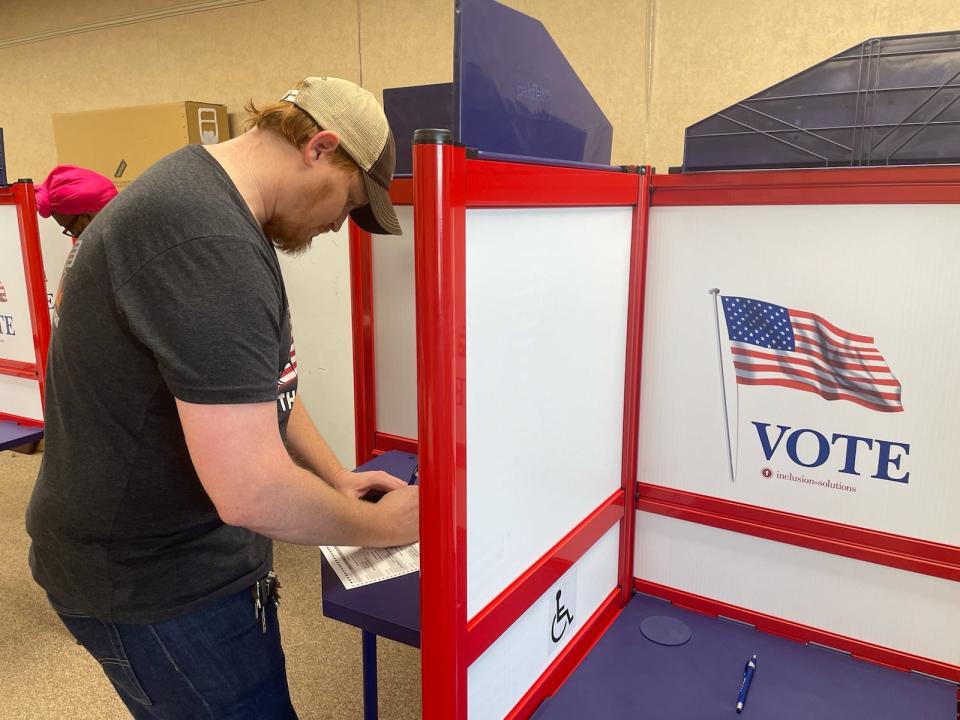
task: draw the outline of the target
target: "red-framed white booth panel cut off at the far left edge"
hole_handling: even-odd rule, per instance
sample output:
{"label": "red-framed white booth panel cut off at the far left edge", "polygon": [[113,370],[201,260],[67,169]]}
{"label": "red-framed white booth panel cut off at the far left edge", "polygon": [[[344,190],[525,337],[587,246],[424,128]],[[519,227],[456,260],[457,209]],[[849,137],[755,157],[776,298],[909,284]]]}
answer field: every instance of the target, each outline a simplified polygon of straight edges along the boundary
{"label": "red-framed white booth panel cut off at the far left edge", "polygon": [[33,184],[0,186],[0,422],[43,426],[50,316]]}

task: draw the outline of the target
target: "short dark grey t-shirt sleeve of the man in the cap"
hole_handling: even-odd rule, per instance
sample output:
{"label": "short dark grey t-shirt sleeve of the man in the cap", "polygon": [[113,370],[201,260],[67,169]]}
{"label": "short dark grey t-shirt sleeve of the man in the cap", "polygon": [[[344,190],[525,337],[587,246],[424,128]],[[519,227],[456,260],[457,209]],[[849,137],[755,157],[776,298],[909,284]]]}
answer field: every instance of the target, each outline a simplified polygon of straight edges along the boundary
{"label": "short dark grey t-shirt sleeve of the man in the cap", "polygon": [[270,259],[249,240],[195,238],[151,259],[116,290],[120,314],[175,397],[276,399],[284,302]]}

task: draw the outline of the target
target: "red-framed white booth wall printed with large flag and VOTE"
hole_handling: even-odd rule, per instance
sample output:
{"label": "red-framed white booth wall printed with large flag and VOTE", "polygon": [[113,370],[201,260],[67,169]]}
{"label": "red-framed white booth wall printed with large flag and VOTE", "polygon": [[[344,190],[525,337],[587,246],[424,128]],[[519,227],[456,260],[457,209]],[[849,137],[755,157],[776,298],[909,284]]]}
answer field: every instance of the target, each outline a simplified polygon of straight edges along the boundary
{"label": "red-framed white booth wall printed with large flag and VOTE", "polygon": [[960,682],[958,222],[955,166],[653,178],[637,590]]}

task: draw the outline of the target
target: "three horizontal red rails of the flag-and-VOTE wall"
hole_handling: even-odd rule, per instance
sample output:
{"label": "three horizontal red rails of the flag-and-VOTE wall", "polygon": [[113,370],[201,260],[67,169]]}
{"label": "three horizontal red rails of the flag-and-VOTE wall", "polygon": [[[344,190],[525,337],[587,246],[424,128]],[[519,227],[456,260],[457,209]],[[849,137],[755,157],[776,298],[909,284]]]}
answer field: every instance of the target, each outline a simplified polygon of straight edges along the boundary
{"label": "three horizontal red rails of the flag-and-VOTE wall", "polygon": [[[659,175],[651,207],[697,205],[960,204],[960,167],[834,168]],[[640,482],[637,510],[833,553],[953,582],[960,547],[731,502]],[[816,642],[897,668],[960,682],[960,666],[829,633],[710,598],[636,579],[641,592],[755,625],[774,635]]]}

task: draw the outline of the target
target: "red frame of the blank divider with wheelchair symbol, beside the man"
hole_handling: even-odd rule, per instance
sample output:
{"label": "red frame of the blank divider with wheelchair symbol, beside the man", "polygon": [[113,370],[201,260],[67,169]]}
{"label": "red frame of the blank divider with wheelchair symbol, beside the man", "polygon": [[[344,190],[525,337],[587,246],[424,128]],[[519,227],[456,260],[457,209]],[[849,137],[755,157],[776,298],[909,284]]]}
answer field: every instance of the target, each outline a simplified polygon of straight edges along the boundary
{"label": "red frame of the blank divider with wheelchair symbol, beside the man", "polygon": [[[640,323],[649,198],[647,169],[626,171],[468,159],[452,145],[414,147],[413,180],[391,188],[414,206],[418,437],[378,432],[370,235],[350,228],[357,462],[388,450],[419,453],[423,717],[466,718],[467,667],[618,522],[618,584],[513,708],[533,710],[573,671],[632,594],[639,417]],[[633,208],[620,489],[467,622],[465,217],[468,208]]]}

